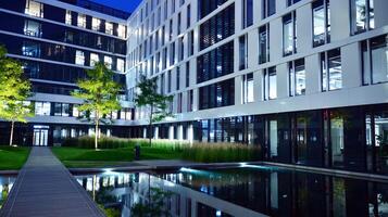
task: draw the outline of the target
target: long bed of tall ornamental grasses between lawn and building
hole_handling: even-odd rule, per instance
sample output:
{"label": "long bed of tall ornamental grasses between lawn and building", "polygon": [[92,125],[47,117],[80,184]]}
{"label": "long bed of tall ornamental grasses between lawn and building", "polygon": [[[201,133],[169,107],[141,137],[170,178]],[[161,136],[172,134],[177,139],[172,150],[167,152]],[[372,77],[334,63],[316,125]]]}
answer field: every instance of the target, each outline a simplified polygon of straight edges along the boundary
{"label": "long bed of tall ornamental grasses between lawn and building", "polygon": [[[88,151],[89,149],[93,148],[93,141],[92,138],[83,137],[77,139],[68,139],[63,145],[80,148]],[[118,138],[102,138],[100,144],[101,149],[107,149],[104,151],[112,149],[112,151],[126,153],[124,154],[124,156],[130,154],[132,157],[134,156],[135,145],[140,145],[141,148],[141,159],[186,159],[202,163],[251,162],[261,159],[260,148],[248,146],[246,144],[195,143],[190,145],[189,143],[182,141],[153,140],[152,144],[150,145],[148,140],[146,139]],[[82,152],[79,149],[74,150],[78,150],[78,152]],[[101,153],[101,151],[97,153]],[[121,154],[116,153],[116,155],[120,156]],[[65,153],[64,156],[72,155]],[[72,161],[83,161],[83,158],[85,158],[85,161],[86,158],[90,159],[90,156],[79,155],[75,158],[72,158]],[[109,156],[102,156],[101,159],[103,158],[109,158]],[[133,158],[130,161],[133,161]]]}

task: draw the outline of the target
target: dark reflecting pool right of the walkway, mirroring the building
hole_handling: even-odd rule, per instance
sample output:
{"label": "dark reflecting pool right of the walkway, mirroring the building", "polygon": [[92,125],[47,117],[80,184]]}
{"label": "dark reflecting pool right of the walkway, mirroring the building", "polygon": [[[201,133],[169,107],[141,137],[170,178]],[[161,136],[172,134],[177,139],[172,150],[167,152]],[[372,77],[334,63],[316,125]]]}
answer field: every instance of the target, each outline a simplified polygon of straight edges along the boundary
{"label": "dark reflecting pool right of the walkway, mirroring the building", "polygon": [[388,183],[276,167],[75,177],[108,216],[388,217]]}

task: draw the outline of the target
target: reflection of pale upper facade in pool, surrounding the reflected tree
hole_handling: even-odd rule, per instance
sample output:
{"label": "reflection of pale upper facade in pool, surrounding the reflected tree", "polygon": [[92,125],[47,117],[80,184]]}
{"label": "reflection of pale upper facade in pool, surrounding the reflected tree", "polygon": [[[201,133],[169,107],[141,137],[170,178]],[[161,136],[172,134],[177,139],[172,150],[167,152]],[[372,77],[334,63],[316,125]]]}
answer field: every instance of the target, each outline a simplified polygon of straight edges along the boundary
{"label": "reflection of pale upper facade in pool, surrounding the reflected tree", "polygon": [[[179,174],[168,176],[175,180],[183,177]],[[221,212],[221,207],[233,207],[234,210],[230,212],[236,216],[240,216],[239,214],[250,214],[250,216],[253,214],[254,216],[255,214],[250,209],[149,174],[110,173],[76,178],[98,204],[103,205],[105,209],[120,210],[122,216],[130,216],[130,208],[138,203],[148,204],[154,189],[172,193],[171,196],[164,199],[164,207],[172,216],[230,216]]]}

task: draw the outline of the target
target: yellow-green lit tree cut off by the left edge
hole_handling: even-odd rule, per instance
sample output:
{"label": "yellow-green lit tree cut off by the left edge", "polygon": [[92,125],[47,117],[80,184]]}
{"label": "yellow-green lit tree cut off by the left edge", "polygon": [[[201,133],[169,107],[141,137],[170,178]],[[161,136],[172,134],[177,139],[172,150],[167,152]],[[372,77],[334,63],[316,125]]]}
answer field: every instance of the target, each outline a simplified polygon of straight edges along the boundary
{"label": "yellow-green lit tree cut off by the left edge", "polygon": [[27,103],[27,99],[32,97],[30,82],[24,78],[21,63],[7,58],[5,53],[5,48],[0,47],[0,118],[11,122],[12,145],[15,123],[27,123],[26,118],[34,113]]}

